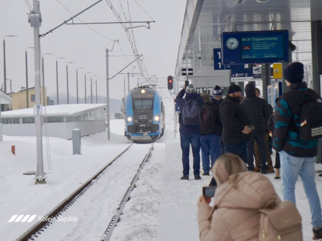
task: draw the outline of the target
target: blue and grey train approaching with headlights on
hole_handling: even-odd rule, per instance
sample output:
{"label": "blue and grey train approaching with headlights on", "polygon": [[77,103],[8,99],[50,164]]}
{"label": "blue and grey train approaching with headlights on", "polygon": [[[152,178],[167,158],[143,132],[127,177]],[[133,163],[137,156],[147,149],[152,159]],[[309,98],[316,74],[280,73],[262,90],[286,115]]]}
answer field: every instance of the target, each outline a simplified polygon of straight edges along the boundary
{"label": "blue and grey train approaching with headlights on", "polygon": [[164,134],[165,111],[161,95],[148,86],[132,89],[125,98],[125,136],[135,142],[153,142]]}

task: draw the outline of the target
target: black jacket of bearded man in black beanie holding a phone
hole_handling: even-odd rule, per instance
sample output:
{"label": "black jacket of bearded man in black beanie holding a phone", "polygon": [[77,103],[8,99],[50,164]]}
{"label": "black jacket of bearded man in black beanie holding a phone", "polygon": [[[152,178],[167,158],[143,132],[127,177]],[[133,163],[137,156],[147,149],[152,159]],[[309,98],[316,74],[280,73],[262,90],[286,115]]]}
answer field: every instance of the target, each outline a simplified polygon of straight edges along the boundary
{"label": "black jacket of bearded man in black beanie holding a phone", "polygon": [[251,138],[250,134],[242,133],[244,127],[250,125],[251,121],[239,102],[239,98],[227,95],[220,106],[224,145],[249,141]]}

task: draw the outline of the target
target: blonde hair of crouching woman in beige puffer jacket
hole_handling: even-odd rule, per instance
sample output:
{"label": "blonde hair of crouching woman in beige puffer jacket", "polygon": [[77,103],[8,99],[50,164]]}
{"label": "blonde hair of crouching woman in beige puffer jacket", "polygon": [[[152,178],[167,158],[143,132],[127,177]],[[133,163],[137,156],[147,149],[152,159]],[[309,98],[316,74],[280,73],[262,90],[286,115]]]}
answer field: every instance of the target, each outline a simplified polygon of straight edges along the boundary
{"label": "blonde hair of crouching woman in beige puffer jacket", "polygon": [[[234,183],[237,173],[245,172],[246,163],[232,153],[226,153],[219,156],[213,165],[213,176],[218,185],[227,182],[228,180]],[[235,174],[235,175],[233,175]]]}

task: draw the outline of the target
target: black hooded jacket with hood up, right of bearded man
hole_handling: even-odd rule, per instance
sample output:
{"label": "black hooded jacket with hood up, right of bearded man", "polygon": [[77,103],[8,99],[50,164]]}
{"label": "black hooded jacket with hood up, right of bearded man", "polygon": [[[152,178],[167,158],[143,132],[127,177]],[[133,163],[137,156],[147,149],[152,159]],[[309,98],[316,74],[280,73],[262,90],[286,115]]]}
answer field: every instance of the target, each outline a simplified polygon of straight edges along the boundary
{"label": "black hooded jacket with hood up, right of bearded man", "polygon": [[252,135],[258,135],[266,132],[266,125],[270,118],[270,110],[268,103],[262,98],[256,97],[255,86],[247,84],[245,86],[246,98],[241,102],[244,107],[251,124],[255,129],[251,132]]}

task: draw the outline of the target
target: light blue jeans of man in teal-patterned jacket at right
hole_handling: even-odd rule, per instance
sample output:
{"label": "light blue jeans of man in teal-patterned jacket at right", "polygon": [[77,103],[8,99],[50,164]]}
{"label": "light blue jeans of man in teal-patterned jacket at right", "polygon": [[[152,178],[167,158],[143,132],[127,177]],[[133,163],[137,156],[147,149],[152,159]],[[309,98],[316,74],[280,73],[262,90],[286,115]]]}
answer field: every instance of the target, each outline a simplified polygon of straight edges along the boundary
{"label": "light blue jeans of man in teal-patterned jacket at right", "polygon": [[322,226],[320,199],[315,184],[315,157],[291,156],[285,151],[279,152],[281,163],[282,190],[284,200],[295,203],[295,183],[300,175],[304,191],[310,205],[313,227]]}

